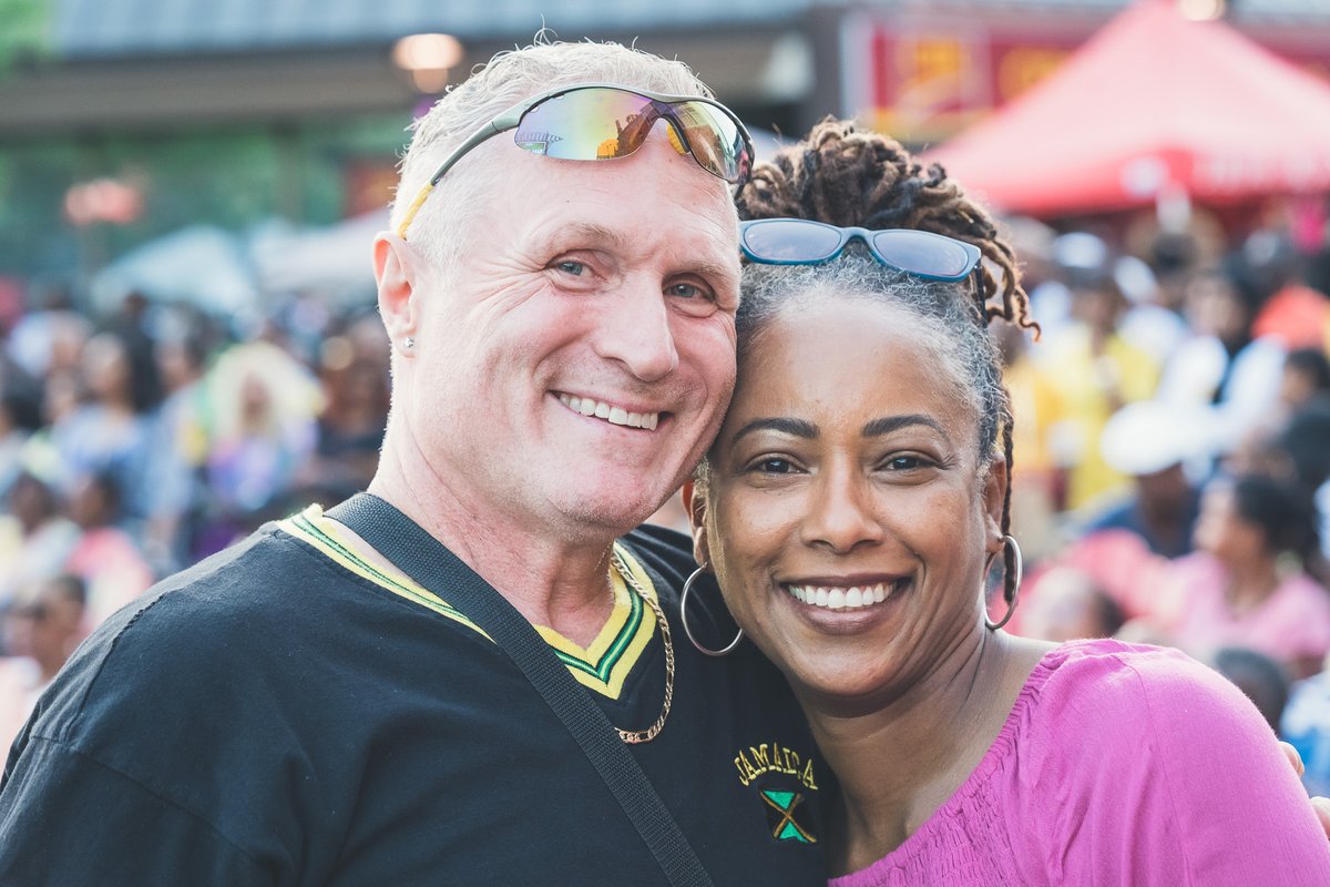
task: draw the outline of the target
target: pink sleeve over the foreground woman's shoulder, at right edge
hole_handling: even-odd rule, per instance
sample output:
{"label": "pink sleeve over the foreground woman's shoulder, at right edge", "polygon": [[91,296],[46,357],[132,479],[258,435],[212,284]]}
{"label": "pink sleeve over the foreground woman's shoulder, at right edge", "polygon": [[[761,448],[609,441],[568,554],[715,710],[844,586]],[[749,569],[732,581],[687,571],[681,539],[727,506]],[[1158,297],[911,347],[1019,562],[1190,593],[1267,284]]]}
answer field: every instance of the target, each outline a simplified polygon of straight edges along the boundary
{"label": "pink sleeve over the foreground woman's shoulder, at right edge", "polygon": [[1048,882],[1330,884],[1330,842],[1274,734],[1210,669],[1105,652],[1064,664],[1036,711],[1021,806]]}

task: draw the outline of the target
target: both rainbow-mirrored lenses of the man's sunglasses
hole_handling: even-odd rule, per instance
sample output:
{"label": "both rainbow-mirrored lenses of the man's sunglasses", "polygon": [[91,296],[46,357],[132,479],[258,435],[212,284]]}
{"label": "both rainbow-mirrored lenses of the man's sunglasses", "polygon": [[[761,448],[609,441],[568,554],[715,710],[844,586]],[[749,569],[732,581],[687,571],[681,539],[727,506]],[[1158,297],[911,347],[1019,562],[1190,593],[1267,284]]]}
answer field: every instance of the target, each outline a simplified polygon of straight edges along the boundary
{"label": "both rainbow-mirrored lenses of the man's sunglasses", "polygon": [[[729,182],[747,173],[747,141],[725,113],[700,101],[670,102],[669,108],[702,169]],[[517,126],[516,142],[560,160],[613,160],[641,148],[661,114],[657,102],[622,89],[573,89],[531,108]],[[670,141],[680,148],[673,130]]]}

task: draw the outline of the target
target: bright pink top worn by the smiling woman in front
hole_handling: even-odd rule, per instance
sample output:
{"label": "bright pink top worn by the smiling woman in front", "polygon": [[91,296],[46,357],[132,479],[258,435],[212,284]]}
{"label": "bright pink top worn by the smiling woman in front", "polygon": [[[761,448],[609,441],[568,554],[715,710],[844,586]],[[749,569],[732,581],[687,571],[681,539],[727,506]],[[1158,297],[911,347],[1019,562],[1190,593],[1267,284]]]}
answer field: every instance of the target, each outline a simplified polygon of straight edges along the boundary
{"label": "bright pink top worn by the smiling woman in front", "polygon": [[833,887],[1325,887],[1330,843],[1257,710],[1176,650],[1075,641],[970,778]]}

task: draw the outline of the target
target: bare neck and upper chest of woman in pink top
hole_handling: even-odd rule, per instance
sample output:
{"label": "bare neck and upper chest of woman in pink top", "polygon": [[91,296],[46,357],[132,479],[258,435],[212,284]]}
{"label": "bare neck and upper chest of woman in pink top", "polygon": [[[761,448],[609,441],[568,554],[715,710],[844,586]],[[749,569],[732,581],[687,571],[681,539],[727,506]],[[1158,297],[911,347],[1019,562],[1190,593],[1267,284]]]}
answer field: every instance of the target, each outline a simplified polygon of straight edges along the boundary
{"label": "bare neck and upper chest of woman in pink top", "polygon": [[805,703],[841,803],[831,870],[863,868],[899,847],[979,766],[1021,686],[1052,645],[980,629],[904,694],[846,717]]}

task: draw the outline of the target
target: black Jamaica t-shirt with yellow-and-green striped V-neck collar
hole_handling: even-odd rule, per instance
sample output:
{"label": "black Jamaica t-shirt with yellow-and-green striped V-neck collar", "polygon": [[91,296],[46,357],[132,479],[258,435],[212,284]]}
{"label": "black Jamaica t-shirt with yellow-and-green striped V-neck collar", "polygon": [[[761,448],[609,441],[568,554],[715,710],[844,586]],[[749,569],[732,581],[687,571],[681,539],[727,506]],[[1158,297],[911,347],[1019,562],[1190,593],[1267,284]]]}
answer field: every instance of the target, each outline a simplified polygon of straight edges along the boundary
{"label": "black Jamaica t-shirt with yellow-and-green striped V-neck collar", "polygon": [[[750,644],[724,660],[688,644],[685,537],[637,531],[621,551],[677,656],[669,721],[633,754],[718,886],[822,883],[830,774],[783,678]],[[527,678],[432,592],[311,509],[117,613],[15,743],[0,883],[665,883]],[[720,606],[702,597],[693,625]],[[585,649],[547,633],[626,730],[656,719],[665,682],[634,600]]]}

